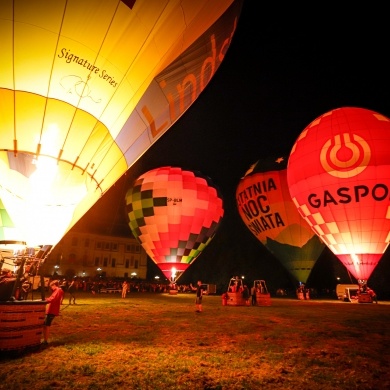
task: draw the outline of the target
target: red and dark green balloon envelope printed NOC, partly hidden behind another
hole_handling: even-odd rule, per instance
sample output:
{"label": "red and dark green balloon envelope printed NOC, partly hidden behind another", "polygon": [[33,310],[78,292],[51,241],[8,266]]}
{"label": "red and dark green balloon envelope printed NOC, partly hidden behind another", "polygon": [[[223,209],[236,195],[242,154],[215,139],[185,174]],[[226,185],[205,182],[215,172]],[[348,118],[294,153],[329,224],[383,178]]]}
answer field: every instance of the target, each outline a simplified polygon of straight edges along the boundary
{"label": "red and dark green balloon envelope printed NOC, partly hidden behind another", "polygon": [[237,207],[249,231],[296,281],[306,283],[325,245],[291,200],[286,166],[284,157],[254,164],[237,186]]}

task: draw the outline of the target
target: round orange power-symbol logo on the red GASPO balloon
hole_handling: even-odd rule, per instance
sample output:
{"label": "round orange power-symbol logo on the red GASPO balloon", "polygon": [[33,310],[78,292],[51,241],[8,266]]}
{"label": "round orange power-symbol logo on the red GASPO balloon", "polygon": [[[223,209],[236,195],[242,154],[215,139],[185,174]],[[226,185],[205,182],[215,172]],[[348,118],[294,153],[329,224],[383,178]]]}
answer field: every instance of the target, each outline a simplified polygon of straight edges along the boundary
{"label": "round orange power-symbol logo on the red GASPO balloon", "polygon": [[330,175],[351,177],[367,167],[370,157],[370,147],[363,138],[344,133],[326,142],[321,150],[320,161]]}

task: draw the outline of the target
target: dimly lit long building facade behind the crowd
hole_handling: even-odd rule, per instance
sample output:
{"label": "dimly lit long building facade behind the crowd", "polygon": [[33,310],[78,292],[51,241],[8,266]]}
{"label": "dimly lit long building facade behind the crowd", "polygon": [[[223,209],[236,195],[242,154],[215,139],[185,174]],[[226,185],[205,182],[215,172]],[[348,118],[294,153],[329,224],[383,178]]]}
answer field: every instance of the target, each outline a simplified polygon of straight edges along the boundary
{"label": "dimly lit long building facade behind the crowd", "polygon": [[146,279],[147,255],[127,237],[68,232],[45,261],[51,275]]}

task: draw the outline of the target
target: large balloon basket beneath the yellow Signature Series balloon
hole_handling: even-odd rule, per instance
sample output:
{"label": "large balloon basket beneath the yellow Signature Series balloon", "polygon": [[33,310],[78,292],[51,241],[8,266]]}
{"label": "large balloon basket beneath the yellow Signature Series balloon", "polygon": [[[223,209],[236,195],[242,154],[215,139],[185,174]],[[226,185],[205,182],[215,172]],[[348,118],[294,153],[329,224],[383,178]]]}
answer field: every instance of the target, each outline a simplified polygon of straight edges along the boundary
{"label": "large balloon basket beneath the yellow Signature Series balloon", "polygon": [[46,301],[0,302],[0,352],[40,345]]}

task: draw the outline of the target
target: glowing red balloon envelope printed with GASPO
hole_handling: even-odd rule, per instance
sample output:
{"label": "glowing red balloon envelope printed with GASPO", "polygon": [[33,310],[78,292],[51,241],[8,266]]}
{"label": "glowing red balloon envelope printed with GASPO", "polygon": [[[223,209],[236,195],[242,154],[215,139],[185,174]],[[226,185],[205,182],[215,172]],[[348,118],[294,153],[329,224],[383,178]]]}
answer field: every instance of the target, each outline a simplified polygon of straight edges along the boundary
{"label": "glowing red balloon envelope printed with GASPO", "polygon": [[329,111],[292,148],[291,197],[321,240],[361,283],[390,234],[390,121],[363,108]]}

